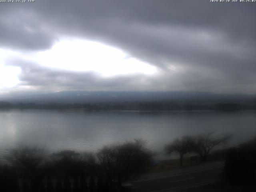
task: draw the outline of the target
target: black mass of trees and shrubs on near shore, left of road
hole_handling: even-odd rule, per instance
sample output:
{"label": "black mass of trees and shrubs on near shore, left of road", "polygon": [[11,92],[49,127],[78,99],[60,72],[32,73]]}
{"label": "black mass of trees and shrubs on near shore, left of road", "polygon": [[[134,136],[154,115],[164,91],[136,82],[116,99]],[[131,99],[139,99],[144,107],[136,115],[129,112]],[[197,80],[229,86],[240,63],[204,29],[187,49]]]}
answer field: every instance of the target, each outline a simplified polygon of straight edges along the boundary
{"label": "black mass of trees and shrubs on near shore, left of road", "polygon": [[[140,173],[151,162],[151,153],[142,140],[106,146],[96,155],[64,150],[50,156],[45,148],[24,145],[10,150],[10,154],[8,160],[15,172],[0,167],[0,185],[5,192],[18,192],[16,173],[22,182],[22,192],[120,190],[122,182]],[[87,181],[88,175],[91,177]],[[70,178],[74,178],[73,186]]]}

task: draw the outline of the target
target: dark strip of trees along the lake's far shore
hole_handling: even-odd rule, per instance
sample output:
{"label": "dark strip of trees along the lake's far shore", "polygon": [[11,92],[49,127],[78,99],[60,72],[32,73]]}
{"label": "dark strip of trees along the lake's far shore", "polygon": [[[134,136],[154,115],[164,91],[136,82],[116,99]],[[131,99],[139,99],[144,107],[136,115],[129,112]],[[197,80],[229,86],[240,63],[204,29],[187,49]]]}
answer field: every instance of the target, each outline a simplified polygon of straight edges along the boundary
{"label": "dark strip of trees along the lake's far shore", "polygon": [[3,102],[0,109],[76,109],[76,110],[141,110],[141,111],[170,111],[170,110],[218,110],[237,111],[255,110],[255,103],[204,103],[204,102]]}

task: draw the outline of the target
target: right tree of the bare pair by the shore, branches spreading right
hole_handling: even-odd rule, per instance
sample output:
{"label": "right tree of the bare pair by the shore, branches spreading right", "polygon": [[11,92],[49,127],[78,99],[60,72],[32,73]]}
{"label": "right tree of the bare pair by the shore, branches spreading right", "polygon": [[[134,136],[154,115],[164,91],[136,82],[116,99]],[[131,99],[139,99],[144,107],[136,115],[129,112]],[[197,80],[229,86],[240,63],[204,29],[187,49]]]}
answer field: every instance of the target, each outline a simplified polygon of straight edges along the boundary
{"label": "right tree of the bare pair by the shore, branches spreading right", "polygon": [[206,162],[212,149],[225,144],[231,136],[231,134],[214,136],[214,131],[200,134],[195,137],[194,151],[200,155],[202,162]]}

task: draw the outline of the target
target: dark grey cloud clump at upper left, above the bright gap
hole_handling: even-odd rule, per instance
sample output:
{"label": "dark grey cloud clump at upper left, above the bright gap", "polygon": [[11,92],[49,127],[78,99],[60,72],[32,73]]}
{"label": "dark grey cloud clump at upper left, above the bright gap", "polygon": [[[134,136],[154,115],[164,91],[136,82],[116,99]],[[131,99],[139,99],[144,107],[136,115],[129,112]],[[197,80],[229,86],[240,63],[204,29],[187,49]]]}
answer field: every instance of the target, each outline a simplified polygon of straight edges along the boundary
{"label": "dark grey cloud clump at upper left, above the bright gap", "polygon": [[[1,4],[2,5],[2,4]],[[0,10],[4,9],[4,6]],[[49,48],[54,34],[44,21],[37,20],[34,12],[10,9],[0,12],[0,42],[2,47],[40,50]]]}

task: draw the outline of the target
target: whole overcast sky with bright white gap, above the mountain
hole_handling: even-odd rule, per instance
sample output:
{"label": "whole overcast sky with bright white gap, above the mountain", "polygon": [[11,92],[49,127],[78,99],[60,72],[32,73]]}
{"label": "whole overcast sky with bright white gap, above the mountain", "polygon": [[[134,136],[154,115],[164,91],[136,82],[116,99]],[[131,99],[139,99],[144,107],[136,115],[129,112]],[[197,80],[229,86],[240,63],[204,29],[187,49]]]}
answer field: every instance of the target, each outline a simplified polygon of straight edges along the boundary
{"label": "whole overcast sky with bright white gap, above the mountain", "polygon": [[0,2],[0,96],[256,94],[256,2]]}

